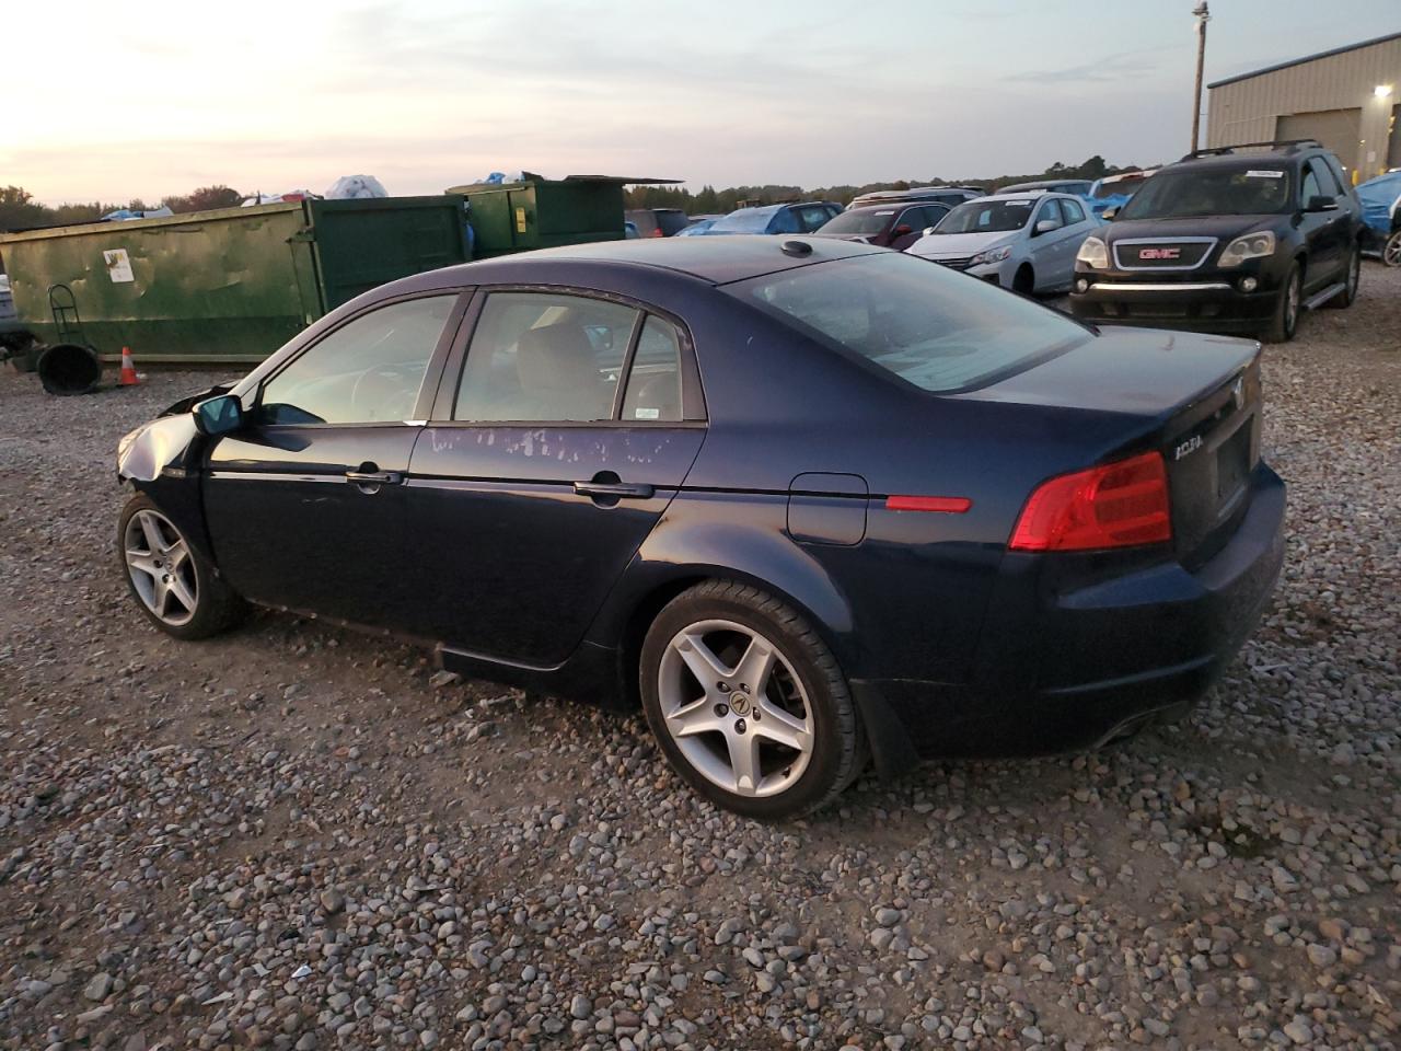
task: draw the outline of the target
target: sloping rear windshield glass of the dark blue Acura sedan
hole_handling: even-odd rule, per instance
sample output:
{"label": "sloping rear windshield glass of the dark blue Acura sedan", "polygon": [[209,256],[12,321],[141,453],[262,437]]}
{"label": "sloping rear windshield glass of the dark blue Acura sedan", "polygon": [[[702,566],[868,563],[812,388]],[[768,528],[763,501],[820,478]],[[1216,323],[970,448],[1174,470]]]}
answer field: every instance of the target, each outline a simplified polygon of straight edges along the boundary
{"label": "sloping rear windshield glass of the dark blue Acura sedan", "polygon": [[904,252],[800,266],[726,290],[933,394],[984,385],[1091,338],[1049,307]]}

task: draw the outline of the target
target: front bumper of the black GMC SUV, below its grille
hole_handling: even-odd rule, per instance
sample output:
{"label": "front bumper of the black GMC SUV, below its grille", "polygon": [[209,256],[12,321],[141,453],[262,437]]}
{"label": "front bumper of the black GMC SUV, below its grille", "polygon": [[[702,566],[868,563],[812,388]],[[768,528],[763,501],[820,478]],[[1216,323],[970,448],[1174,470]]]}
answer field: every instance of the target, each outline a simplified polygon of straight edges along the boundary
{"label": "front bumper of the black GMC SUV, below its grille", "polygon": [[1210,275],[1189,282],[1097,276],[1086,291],[1070,293],[1070,312],[1098,325],[1252,332],[1268,324],[1279,303],[1279,291],[1261,283],[1247,293]]}

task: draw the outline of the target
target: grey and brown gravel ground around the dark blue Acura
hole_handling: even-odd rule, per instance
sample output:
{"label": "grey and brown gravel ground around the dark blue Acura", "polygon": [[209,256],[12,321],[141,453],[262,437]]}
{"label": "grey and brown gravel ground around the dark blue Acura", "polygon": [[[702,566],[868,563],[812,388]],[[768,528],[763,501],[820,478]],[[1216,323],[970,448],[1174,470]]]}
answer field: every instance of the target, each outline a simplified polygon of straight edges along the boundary
{"label": "grey and brown gravel ground around the dark blue Acura", "polygon": [[640,717],[115,568],[116,437],[207,377],[0,374],[0,1047],[1401,1044],[1401,270],[1267,352],[1267,622],[1181,724],[759,825]]}

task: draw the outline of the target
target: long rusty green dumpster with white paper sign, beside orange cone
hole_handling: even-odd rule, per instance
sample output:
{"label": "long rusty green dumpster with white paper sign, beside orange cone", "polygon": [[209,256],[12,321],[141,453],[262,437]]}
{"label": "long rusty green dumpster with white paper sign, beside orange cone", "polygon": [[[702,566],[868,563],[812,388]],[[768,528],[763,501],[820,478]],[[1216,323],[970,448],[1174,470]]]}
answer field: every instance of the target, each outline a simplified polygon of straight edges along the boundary
{"label": "long rusty green dumpster with white paper sign, beside orange cone", "polygon": [[458,196],[297,200],[0,235],[20,322],[104,360],[261,362],[361,291],[467,262]]}

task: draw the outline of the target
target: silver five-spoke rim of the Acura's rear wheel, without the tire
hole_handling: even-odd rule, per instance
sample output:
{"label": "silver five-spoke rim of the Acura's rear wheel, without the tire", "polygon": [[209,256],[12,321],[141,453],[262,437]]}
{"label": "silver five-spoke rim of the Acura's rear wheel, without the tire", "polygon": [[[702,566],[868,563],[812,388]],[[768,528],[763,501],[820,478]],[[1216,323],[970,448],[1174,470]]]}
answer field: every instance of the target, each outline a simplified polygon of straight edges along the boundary
{"label": "silver five-spoke rim of the Acura's rear wheel, without the tire", "polygon": [[792,788],[813,758],[813,708],[793,666],[733,621],[698,621],[657,673],[667,733],[700,775],[740,796]]}

